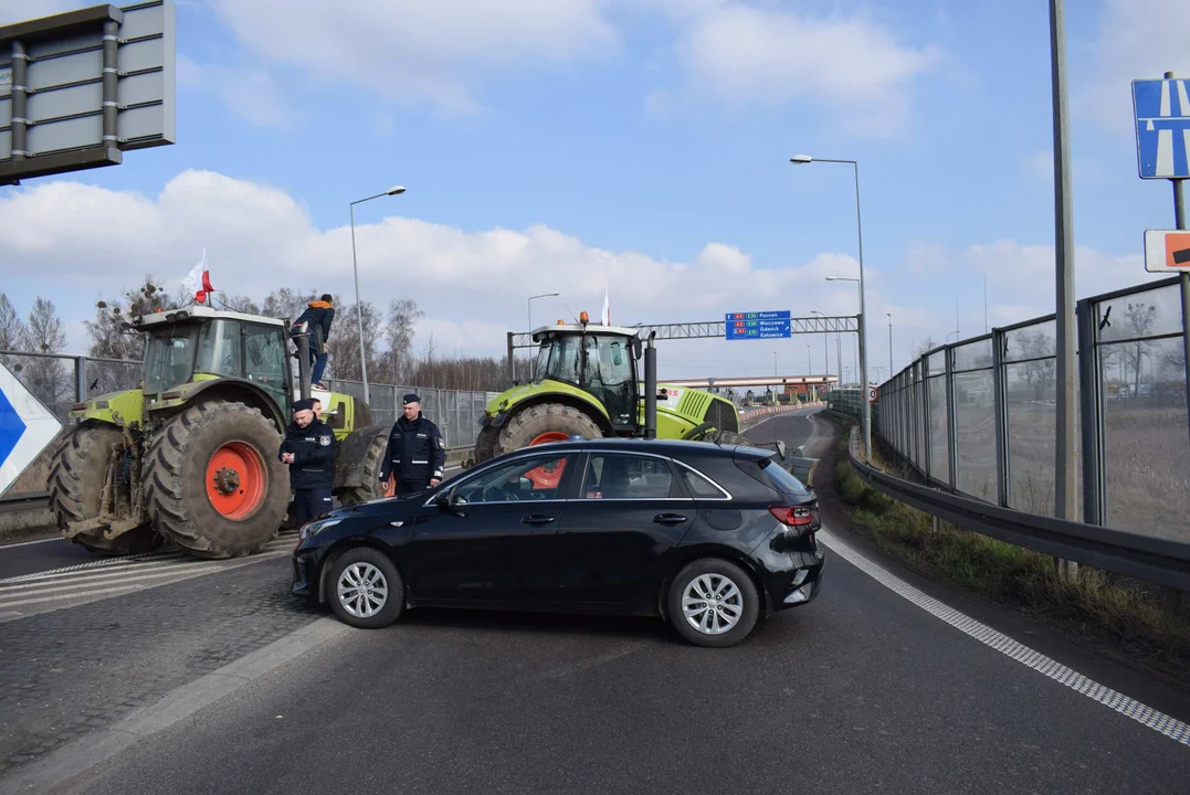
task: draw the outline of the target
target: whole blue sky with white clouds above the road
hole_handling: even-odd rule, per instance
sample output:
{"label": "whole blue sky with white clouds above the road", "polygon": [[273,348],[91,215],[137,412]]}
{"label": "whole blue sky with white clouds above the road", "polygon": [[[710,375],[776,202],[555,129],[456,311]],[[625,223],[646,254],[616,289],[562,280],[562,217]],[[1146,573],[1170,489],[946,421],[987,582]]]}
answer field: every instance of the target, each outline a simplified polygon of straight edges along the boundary
{"label": "whole blue sky with white clouds above the road", "polygon": [[[0,24],[93,5],[0,0]],[[95,302],[206,250],[228,294],[361,291],[415,346],[530,323],[858,313],[872,380],[927,337],[1052,313],[1047,4],[1036,0],[175,0],[177,141],[0,188],[0,291]],[[1129,83],[1190,75],[1190,2],[1066,2],[1079,297],[1154,278]],[[344,321],[340,320],[339,323]],[[344,327],[340,327],[344,328]],[[344,329],[345,330],[345,329]],[[333,333],[333,332],[332,332]],[[826,346],[838,372],[835,341]],[[844,366],[854,343],[844,340]],[[663,378],[821,373],[822,335],[663,342]],[[776,365],[775,365],[776,361]],[[333,362],[332,362],[333,370]]]}

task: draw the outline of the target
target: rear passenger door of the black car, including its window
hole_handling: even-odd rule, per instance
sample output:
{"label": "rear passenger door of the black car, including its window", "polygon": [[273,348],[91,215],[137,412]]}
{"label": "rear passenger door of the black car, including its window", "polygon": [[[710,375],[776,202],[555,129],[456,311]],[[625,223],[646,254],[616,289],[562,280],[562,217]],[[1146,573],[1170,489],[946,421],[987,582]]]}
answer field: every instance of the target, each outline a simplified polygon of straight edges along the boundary
{"label": "rear passenger door of the black car, including its window", "polygon": [[665,554],[697,518],[694,500],[662,456],[591,452],[581,474],[553,549],[559,598],[606,605],[651,599]]}

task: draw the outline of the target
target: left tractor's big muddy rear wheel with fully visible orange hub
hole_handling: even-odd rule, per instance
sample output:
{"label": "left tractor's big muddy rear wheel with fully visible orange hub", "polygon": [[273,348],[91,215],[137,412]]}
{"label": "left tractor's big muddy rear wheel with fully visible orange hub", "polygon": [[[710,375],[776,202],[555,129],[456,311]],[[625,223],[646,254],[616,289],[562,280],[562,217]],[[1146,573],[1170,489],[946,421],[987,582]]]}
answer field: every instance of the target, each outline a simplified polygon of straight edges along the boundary
{"label": "left tractor's big muddy rear wheel with fully visible orange hub", "polygon": [[199,557],[259,551],[289,504],[280,446],[276,427],[243,403],[203,403],[177,415],[157,431],[145,460],[154,526]]}

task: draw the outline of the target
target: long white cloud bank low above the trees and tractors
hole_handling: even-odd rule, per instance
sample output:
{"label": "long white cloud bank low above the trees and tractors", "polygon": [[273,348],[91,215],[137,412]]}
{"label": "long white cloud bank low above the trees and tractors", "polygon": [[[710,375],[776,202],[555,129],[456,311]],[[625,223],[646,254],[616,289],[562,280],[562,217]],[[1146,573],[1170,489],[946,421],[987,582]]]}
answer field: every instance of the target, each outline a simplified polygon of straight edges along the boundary
{"label": "long white cloud bank low above the trees and tractors", "polygon": [[[113,228],[120,234],[111,234]],[[416,299],[426,311],[418,345],[432,330],[443,353],[501,355],[505,333],[527,323],[526,298],[550,290],[562,296],[533,302],[534,324],[569,320],[571,311],[597,316],[605,289],[613,320],[630,324],[703,321],[739,310],[856,311],[853,290],[823,282],[823,276],[856,272],[857,263],[839,253],[768,269],[734,246],[712,241],[693,260],[671,261],[599,248],[541,225],[464,232],[399,216],[359,225],[356,236],[365,298],[380,305]],[[52,296],[68,321],[89,316],[94,298],[112,296],[146,273],[171,289],[202,248],[214,286],[228,294],[259,297],[293,286],[352,298],[349,229],[317,228],[302,206],[276,188],[192,170],[156,196],[52,181],[0,197],[0,261],[21,275],[24,291]],[[879,291],[881,275],[871,271],[873,311],[887,303]],[[774,349],[801,367],[801,342],[813,345],[815,357],[821,352],[818,337],[774,346],[668,345],[663,372],[771,372]]]}

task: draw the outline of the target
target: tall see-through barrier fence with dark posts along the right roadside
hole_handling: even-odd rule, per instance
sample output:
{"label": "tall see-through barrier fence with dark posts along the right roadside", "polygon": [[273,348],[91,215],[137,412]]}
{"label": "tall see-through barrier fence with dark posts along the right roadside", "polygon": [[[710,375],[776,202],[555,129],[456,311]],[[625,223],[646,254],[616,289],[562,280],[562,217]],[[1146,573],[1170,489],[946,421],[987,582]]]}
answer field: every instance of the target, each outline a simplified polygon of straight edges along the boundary
{"label": "tall see-through barrier fence with dark posts along the right roadside", "polygon": [[[1079,516],[1190,544],[1190,431],[1177,277],[1084,298],[1078,326]],[[873,435],[928,484],[1054,515],[1054,316],[927,352],[879,387]],[[859,390],[831,408],[858,416]]]}

